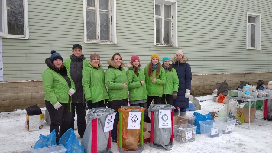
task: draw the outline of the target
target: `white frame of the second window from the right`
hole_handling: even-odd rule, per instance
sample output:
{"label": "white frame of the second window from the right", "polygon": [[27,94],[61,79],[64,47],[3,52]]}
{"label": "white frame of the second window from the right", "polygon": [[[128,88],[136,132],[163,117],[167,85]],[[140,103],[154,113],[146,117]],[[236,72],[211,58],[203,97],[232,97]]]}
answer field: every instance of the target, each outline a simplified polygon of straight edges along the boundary
{"label": "white frame of the second window from the right", "polygon": [[[178,39],[177,39],[177,6],[178,6],[178,2],[177,0],[154,0],[154,45],[155,46],[178,46]],[[159,44],[156,43],[156,4],[158,3],[163,3],[163,4],[168,4],[168,5],[172,5],[172,44]],[[163,26],[163,24],[162,24]],[[164,28],[162,27],[162,33],[163,33]],[[163,38],[162,38],[163,39]]]}

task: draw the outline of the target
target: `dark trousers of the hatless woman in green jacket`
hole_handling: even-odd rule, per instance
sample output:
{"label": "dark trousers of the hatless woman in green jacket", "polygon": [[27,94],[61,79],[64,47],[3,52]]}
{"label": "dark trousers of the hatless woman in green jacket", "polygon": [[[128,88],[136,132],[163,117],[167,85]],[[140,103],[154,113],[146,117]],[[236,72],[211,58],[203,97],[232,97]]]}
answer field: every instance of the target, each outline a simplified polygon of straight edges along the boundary
{"label": "dark trousers of the hatless woman in green jacket", "polygon": [[118,109],[121,108],[121,106],[128,105],[128,99],[122,99],[122,100],[113,100],[108,101],[108,108],[111,108],[116,112],[114,122],[113,122],[113,129],[111,131],[111,137],[113,141],[116,141],[117,139],[117,124],[119,122],[119,112]]}

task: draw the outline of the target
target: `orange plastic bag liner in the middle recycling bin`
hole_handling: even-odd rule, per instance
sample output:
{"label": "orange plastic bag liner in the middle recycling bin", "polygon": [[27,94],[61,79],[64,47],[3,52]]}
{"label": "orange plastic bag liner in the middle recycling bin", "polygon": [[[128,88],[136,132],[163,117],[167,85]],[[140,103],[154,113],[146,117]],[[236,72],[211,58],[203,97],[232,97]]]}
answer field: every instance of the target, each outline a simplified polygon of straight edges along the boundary
{"label": "orange plastic bag liner in the middle recycling bin", "polygon": [[[138,141],[140,136],[140,129],[128,129],[128,116],[131,110],[139,110],[144,112],[145,108],[139,109],[137,107],[124,107],[119,108],[118,112],[122,112],[122,149],[124,151],[136,151],[138,148]],[[120,122],[120,121],[119,121]],[[117,145],[119,148],[119,122],[117,124]]]}

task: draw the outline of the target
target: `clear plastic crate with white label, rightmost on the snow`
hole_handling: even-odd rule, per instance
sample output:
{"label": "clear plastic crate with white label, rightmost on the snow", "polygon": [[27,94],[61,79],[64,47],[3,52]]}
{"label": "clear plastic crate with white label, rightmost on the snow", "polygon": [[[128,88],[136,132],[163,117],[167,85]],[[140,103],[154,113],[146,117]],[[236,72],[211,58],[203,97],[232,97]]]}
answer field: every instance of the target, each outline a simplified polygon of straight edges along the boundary
{"label": "clear plastic crate with white label, rightmost on the snow", "polygon": [[236,119],[232,119],[229,117],[219,117],[216,118],[215,120],[218,120],[223,123],[222,134],[230,134],[235,131]]}

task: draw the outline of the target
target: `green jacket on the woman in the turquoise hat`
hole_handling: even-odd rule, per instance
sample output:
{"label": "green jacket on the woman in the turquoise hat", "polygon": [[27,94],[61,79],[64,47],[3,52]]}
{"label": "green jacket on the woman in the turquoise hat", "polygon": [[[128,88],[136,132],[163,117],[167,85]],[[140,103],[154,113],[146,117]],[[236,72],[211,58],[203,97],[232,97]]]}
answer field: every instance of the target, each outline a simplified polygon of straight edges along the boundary
{"label": "green jacket on the woman in the turquoise hat", "polygon": [[[165,72],[165,71],[164,71]],[[166,71],[166,82],[163,85],[163,94],[173,95],[174,91],[179,90],[179,78],[177,76],[176,70],[172,68],[172,71]]]}

